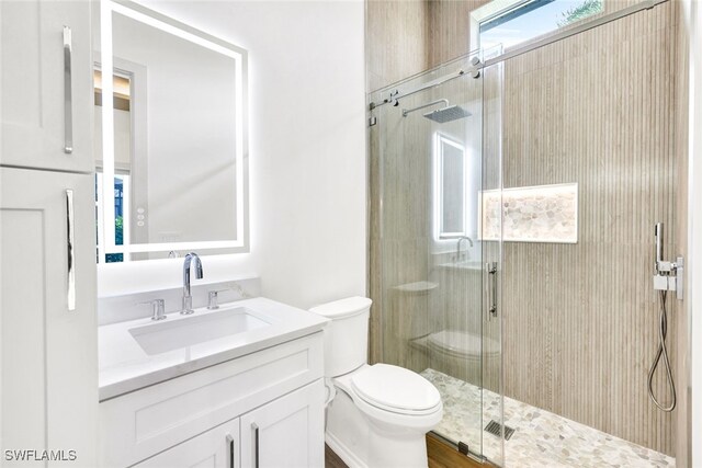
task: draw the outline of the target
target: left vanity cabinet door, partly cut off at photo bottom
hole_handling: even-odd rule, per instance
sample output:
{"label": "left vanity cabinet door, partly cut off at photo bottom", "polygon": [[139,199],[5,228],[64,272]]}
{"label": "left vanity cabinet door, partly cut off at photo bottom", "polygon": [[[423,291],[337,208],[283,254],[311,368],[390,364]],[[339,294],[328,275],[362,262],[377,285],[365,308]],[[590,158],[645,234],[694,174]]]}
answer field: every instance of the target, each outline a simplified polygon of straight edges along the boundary
{"label": "left vanity cabinet door, partly cut off at photo bottom", "polygon": [[239,468],[239,419],[151,457],[138,468]]}

